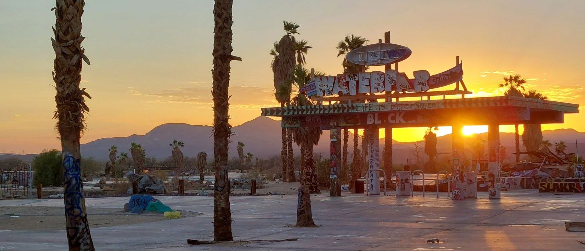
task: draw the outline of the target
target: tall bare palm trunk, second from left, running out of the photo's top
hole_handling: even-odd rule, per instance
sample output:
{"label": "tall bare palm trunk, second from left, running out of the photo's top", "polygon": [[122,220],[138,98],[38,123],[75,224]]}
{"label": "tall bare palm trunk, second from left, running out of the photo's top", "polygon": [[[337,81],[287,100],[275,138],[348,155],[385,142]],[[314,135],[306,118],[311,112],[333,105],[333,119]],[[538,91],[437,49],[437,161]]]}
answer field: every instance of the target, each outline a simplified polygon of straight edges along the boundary
{"label": "tall bare palm trunk, second from left, running out of the photo's top", "polygon": [[214,98],[214,239],[216,242],[233,241],[232,210],[229,194],[231,192],[228,177],[228,144],[232,135],[229,125],[229,73],[230,62],[238,59],[232,56],[232,6],[233,0],[215,0],[214,16],[214,68],[211,71],[214,80],[212,95]]}

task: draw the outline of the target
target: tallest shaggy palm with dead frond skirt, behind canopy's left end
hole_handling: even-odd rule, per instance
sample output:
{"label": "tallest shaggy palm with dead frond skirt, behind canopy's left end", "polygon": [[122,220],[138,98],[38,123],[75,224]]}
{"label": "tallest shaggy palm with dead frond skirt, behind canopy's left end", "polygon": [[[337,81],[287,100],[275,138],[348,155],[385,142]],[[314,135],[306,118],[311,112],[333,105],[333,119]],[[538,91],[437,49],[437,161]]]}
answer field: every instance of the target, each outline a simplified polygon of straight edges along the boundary
{"label": "tallest shaggy palm with dead frond skirt, behind canopy's left end", "polygon": [[[292,35],[298,35],[300,25],[294,22],[284,22],[284,35],[276,46],[276,53],[271,51],[271,55],[276,55],[272,64],[274,73],[274,90],[276,90],[276,100],[282,107],[290,105],[291,97],[291,78],[295,67],[297,67],[295,44],[297,40]],[[290,182],[290,171],[294,170],[294,152],[292,150],[292,134],[283,128],[283,149],[281,150],[283,166],[283,182]]]}

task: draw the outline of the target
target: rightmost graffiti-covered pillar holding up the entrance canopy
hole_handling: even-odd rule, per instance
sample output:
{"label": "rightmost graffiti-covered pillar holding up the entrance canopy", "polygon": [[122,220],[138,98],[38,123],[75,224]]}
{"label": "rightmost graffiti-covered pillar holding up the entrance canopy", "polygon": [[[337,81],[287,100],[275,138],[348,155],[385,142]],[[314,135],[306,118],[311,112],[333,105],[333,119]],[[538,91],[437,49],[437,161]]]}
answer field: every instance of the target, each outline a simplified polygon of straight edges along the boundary
{"label": "rightmost graffiti-covered pillar holding up the entrance canopy", "polygon": [[488,132],[488,177],[490,199],[501,198],[501,177],[500,177],[500,125],[490,125]]}

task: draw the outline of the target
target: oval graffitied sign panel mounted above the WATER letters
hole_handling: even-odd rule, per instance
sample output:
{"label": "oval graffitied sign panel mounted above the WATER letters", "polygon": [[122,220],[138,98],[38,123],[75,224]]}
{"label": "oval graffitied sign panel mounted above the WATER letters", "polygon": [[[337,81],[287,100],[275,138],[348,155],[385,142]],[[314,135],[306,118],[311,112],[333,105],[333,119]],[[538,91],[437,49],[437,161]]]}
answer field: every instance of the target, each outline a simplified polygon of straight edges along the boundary
{"label": "oval graffitied sign panel mounted above the WATER letters", "polygon": [[408,59],[412,51],[407,47],[391,43],[370,44],[350,51],[347,61],[360,66],[385,66]]}

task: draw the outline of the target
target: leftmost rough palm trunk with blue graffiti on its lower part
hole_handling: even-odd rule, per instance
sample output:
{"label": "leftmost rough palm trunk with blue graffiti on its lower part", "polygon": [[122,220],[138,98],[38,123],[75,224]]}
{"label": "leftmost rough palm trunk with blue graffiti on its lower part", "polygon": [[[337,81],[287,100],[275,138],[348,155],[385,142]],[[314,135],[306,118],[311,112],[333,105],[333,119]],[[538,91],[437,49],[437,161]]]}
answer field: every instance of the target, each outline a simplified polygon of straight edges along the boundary
{"label": "leftmost rough palm trunk with blue graffiti on its lower part", "polygon": [[70,250],[95,250],[91,238],[90,224],[85,210],[83,183],[81,181],[81,132],[85,129],[85,114],[90,108],[85,105],[85,97],[91,98],[81,84],[81,60],[88,65],[81,42],[81,16],[84,0],[57,1],[56,23],[53,27],[54,60],[53,81],[57,95],[57,130],[61,139],[61,156],[65,167],[65,218],[67,239]]}

